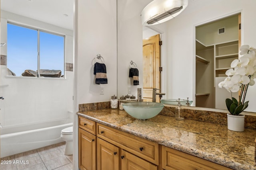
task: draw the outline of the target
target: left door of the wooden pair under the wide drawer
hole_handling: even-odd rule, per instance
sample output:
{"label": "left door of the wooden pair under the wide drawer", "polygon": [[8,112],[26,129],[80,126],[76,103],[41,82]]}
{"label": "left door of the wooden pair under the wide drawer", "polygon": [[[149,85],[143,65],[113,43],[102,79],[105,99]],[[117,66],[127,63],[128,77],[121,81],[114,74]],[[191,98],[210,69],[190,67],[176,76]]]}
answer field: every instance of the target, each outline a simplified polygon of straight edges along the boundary
{"label": "left door of the wooden pair under the wide drawer", "polygon": [[119,170],[119,148],[97,138],[97,169]]}

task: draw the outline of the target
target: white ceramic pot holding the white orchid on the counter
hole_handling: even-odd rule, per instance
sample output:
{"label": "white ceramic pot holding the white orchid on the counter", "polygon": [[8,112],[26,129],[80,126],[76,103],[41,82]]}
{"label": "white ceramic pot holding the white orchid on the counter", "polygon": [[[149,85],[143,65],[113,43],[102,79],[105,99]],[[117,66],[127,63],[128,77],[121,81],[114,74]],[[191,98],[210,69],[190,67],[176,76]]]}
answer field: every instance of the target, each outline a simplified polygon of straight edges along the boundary
{"label": "white ceramic pot holding the white orchid on the counter", "polygon": [[245,115],[231,115],[228,116],[228,129],[231,131],[242,132],[244,131],[244,117]]}

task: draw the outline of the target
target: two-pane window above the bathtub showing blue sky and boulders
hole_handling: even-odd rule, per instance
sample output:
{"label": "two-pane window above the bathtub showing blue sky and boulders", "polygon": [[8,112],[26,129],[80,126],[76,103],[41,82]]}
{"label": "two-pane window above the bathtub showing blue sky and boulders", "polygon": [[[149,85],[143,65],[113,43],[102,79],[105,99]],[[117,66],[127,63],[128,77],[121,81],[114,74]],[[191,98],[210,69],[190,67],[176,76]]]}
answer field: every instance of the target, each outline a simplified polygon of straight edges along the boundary
{"label": "two-pane window above the bathtub showing blue sky and boulders", "polygon": [[8,23],[7,45],[9,76],[63,77],[64,35]]}

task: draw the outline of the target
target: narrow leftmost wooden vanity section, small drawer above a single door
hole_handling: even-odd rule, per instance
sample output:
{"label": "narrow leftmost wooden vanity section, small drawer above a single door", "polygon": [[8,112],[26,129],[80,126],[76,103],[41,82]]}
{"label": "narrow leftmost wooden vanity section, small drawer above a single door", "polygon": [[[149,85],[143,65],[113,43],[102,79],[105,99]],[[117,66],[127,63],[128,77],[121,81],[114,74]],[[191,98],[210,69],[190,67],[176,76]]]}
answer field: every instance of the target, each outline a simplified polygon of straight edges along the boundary
{"label": "narrow leftmost wooden vanity section, small drawer above a single door", "polygon": [[79,117],[78,164],[80,170],[97,169],[96,141],[96,122],[84,117]]}

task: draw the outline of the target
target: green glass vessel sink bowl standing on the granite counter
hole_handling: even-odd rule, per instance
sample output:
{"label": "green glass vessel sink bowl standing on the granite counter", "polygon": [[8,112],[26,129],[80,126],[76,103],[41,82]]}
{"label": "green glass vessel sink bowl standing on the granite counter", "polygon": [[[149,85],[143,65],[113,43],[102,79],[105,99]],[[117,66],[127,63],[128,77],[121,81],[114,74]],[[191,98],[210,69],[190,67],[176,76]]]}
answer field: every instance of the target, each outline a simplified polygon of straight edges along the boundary
{"label": "green glass vessel sink bowl standing on the granite counter", "polygon": [[140,120],[152,118],[164,108],[164,104],[156,102],[130,102],[122,106],[129,115]]}

